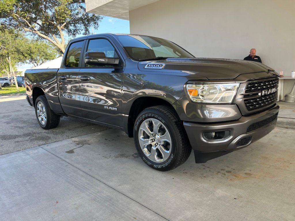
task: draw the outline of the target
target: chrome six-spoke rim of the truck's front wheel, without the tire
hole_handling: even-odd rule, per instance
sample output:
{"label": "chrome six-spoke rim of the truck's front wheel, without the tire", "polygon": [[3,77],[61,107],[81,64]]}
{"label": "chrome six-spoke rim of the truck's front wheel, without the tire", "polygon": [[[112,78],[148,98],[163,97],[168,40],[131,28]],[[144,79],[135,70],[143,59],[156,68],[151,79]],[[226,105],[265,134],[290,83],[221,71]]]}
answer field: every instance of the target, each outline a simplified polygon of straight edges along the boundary
{"label": "chrome six-spoke rim of the truck's front wheel, without the tire", "polygon": [[153,162],[163,162],[171,154],[171,136],[157,119],[149,118],[142,122],[138,139],[143,153]]}

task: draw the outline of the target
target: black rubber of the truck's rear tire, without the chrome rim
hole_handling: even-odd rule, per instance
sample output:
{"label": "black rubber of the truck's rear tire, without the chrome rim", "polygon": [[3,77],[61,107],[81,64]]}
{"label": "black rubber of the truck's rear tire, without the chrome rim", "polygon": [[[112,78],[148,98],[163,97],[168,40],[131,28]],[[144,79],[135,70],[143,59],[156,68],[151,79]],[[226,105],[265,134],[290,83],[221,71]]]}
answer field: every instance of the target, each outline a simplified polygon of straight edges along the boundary
{"label": "black rubber of the truck's rear tire, without the chrome rim", "polygon": [[[46,110],[46,116],[47,116],[47,121],[46,123],[43,125],[40,120],[38,119],[38,114],[37,114],[37,104],[41,102]],[[59,125],[60,122],[60,116],[56,115],[51,109],[50,106],[48,104],[48,101],[45,97],[45,95],[41,95],[39,97],[37,97],[36,101],[35,101],[35,114],[36,114],[36,118],[37,121],[39,123],[39,125],[45,129],[52,129],[52,128],[56,128]]]}

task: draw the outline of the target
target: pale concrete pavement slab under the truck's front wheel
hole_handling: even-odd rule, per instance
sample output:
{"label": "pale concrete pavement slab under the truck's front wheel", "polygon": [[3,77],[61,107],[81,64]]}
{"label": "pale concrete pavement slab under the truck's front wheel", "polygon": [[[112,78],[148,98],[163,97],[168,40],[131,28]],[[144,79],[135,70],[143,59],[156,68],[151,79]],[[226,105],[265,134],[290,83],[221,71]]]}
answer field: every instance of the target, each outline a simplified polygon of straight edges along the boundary
{"label": "pale concrete pavement slab under the truck's front wheel", "polygon": [[295,220],[294,143],[294,130],[276,128],[205,164],[191,154],[159,172],[138,157],[132,138],[104,128],[0,156],[0,217]]}

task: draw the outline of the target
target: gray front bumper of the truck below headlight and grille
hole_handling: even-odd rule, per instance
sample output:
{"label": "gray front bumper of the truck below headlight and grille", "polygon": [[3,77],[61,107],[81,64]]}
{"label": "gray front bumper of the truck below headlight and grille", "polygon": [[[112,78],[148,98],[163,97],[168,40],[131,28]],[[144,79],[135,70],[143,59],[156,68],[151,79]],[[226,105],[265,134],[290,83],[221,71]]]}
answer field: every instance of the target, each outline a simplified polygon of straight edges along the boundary
{"label": "gray front bumper of the truck below headlight and grille", "polygon": [[[196,163],[228,154],[249,146],[266,136],[276,126],[279,106],[252,116],[242,116],[235,121],[222,123],[196,123],[184,121],[183,125],[194,150]],[[204,138],[204,133],[230,131],[230,135],[218,141]]]}

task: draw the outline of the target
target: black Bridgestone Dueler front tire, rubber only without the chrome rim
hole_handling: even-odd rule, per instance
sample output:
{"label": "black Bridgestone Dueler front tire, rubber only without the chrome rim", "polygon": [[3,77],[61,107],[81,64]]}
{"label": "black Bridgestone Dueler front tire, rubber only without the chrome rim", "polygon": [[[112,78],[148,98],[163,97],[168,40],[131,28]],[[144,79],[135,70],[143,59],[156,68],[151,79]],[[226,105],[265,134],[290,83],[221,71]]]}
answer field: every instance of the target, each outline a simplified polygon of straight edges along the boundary
{"label": "black Bridgestone Dueler front tire, rubber only without the chrome rim", "polygon": [[[147,119],[156,119],[163,124],[171,137],[171,153],[167,160],[162,162],[154,162],[150,160],[143,152],[139,142],[139,131],[143,121]],[[174,109],[168,106],[153,106],[143,110],[136,118],[133,129],[134,142],[137,152],[141,159],[153,169],[160,171],[168,171],[175,169],[183,164],[191,154],[191,145],[187,137],[183,123],[178,117]]]}

